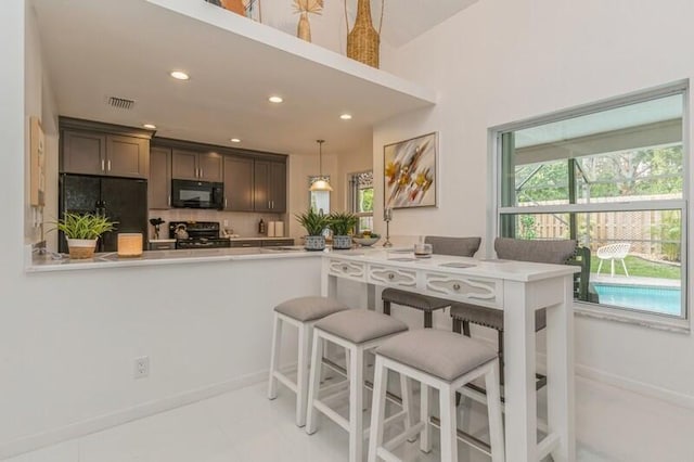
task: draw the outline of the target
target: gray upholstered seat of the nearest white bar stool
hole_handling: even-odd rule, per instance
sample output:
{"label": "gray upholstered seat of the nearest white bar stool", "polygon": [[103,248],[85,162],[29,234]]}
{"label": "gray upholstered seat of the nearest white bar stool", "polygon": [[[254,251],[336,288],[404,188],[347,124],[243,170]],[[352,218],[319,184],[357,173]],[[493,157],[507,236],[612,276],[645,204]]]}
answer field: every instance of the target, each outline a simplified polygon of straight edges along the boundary
{"label": "gray upholstered seat of the nearest white bar stool", "polygon": [[376,354],[449,382],[497,358],[493,348],[478,341],[432,329],[393,337]]}

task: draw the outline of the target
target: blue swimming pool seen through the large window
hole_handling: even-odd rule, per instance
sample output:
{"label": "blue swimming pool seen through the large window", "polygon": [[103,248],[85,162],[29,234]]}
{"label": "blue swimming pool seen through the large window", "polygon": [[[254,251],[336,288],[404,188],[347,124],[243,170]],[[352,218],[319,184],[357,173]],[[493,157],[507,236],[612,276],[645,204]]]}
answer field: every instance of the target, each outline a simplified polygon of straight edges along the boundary
{"label": "blue swimming pool seen through the large window", "polygon": [[682,304],[680,287],[646,285],[593,284],[601,304],[679,316]]}

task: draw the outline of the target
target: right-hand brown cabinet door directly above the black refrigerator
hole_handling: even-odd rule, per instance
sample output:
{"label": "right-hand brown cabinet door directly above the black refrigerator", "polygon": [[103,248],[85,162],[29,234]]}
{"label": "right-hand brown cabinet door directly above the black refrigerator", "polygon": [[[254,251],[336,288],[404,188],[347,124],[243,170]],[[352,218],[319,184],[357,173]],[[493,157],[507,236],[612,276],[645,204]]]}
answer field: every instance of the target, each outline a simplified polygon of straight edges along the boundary
{"label": "right-hand brown cabinet door directly above the black refrigerator", "polygon": [[106,175],[146,179],[149,170],[149,140],[116,134],[106,137]]}

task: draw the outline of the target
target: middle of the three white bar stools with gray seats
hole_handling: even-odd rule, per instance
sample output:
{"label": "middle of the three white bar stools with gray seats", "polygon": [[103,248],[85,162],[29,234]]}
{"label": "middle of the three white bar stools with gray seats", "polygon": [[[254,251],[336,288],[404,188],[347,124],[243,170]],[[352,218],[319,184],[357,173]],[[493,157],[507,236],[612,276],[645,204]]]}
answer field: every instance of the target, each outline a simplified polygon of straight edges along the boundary
{"label": "middle of the three white bar stools with gray seats", "polygon": [[[375,311],[352,309],[331,315],[318,321],[313,329],[313,357],[311,360],[311,378],[308,390],[308,416],[306,433],[312,435],[317,431],[318,415],[316,410],[333,420],[349,432],[349,461],[362,460],[364,439],[363,427],[363,387],[364,356],[388,338],[407,331],[404,322]],[[347,377],[349,381],[349,419],[345,419],[330,408],[325,400],[335,395],[319,399],[321,367],[320,351],[324,342],[331,342],[345,348],[347,352]],[[406,420],[410,425],[409,396],[410,389],[406,380],[400,381],[402,388],[403,410],[389,418],[389,421]]]}

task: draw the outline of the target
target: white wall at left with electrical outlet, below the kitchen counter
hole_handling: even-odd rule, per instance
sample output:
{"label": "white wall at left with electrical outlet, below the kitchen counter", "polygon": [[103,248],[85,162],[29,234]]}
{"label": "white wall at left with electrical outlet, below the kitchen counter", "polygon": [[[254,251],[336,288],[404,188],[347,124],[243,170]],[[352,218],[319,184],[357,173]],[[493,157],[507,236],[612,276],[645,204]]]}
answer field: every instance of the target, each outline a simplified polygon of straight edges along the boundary
{"label": "white wall at left with electrical outlet, below the kitchen counter", "polygon": [[320,292],[317,258],[25,273],[28,115],[55,130],[31,14],[0,2],[0,459],[264,380],[272,307]]}

